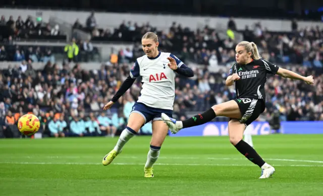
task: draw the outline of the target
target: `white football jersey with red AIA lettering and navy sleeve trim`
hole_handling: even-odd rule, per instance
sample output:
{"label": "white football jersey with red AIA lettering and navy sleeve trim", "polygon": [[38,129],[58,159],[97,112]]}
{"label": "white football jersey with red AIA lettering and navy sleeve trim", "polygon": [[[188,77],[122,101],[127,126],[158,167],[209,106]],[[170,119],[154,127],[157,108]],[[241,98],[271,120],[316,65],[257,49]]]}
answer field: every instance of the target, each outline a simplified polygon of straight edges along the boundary
{"label": "white football jersey with red AIA lettering and navy sleeve trim", "polygon": [[147,55],[137,58],[130,71],[131,78],[142,77],[143,85],[137,102],[154,108],[173,110],[175,72],[168,67],[169,56],[176,60],[178,67],[182,66],[180,59],[166,52],[159,52],[154,58]]}

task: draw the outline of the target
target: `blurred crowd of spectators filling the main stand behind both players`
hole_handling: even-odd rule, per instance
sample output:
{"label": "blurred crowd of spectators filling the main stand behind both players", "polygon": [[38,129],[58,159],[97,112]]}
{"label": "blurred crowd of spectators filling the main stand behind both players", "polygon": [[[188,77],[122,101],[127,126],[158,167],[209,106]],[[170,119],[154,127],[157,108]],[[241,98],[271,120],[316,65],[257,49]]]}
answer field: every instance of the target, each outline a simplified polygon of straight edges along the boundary
{"label": "blurred crowd of spectators filling the main stand behind both players", "polygon": [[[140,40],[144,31],[153,30],[149,24],[134,27],[123,23],[118,31],[138,30]],[[230,30],[235,30],[233,19],[228,23],[229,38],[224,40],[219,38],[217,30],[207,26],[191,31],[173,23],[169,33],[158,32],[162,51],[172,51],[184,62],[202,65],[194,66],[193,78],[176,78],[176,118],[187,118],[189,111],[205,110],[236,96],[234,87],[224,84],[229,65],[235,61],[236,43]],[[253,31],[246,28],[241,33],[245,40],[259,45],[263,58],[278,65],[287,64],[289,69],[315,78],[315,84],[307,86],[301,81],[268,77],[267,108],[258,120],[268,120],[274,111],[280,112],[282,120],[323,120],[323,32],[316,27],[304,30],[296,27],[290,33],[277,33],[256,24]],[[47,136],[114,136],[127,123],[132,105],[140,94],[140,79],[108,113],[101,112],[101,108],[128,76],[134,59],[142,54],[140,44],[136,43],[132,51],[120,50],[118,55],[112,54],[110,63],[91,71],[82,70],[79,63],[61,65],[50,59],[45,60],[43,70],[34,70],[32,62],[35,60],[30,55],[28,59],[21,58],[20,65],[12,64],[1,71],[1,128],[15,129],[11,125],[16,124],[22,114],[32,112],[41,120],[41,131]],[[142,127],[141,133],[151,133],[149,124]]]}

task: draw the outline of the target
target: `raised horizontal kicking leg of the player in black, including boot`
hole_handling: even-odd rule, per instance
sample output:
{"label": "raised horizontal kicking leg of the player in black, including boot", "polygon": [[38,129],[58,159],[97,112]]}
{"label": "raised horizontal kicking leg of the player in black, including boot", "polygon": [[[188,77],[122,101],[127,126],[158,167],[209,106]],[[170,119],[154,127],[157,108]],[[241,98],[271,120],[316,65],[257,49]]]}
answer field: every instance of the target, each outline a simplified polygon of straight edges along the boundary
{"label": "raised horizontal kicking leg of the player in black, including boot", "polygon": [[168,117],[166,114],[161,114],[164,122],[169,126],[171,132],[176,134],[180,129],[191,126],[197,126],[211,121],[216,116],[226,116],[230,118],[241,118],[241,112],[237,102],[234,100],[227,101],[218,105],[212,106],[202,114],[193,116],[184,121],[176,121],[174,118]]}

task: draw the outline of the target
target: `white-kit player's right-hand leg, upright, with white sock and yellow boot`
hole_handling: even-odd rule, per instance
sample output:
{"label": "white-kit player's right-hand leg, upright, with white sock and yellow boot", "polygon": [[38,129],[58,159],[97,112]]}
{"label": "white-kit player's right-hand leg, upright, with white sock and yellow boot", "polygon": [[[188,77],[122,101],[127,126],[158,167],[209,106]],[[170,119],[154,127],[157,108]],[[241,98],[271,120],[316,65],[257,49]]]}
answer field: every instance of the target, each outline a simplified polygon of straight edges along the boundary
{"label": "white-kit player's right-hand leg, upright, with white sock and yellow boot", "polygon": [[157,161],[160,147],[168,133],[168,126],[161,120],[152,121],[152,137],[150,150],[147,155],[147,162],[144,168],[145,177],[153,177],[152,165]]}

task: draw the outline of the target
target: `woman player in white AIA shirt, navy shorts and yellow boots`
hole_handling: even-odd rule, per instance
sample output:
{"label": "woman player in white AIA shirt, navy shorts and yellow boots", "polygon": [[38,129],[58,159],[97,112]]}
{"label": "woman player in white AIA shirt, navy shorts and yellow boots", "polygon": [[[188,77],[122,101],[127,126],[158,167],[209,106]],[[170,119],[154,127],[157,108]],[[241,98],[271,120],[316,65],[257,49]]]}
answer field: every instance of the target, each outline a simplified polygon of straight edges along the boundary
{"label": "woman player in white AIA shirt, navy shorts and yellow boots", "polygon": [[158,51],[156,34],[147,32],[142,37],[141,43],[146,55],[137,58],[130,76],[103,108],[109,109],[131,87],[137,77],[142,77],[141,95],[132,107],[127,127],[121,133],[115,148],[103,157],[102,164],[109,165],[121,153],[130,138],[139,132],[140,127],[152,120],[152,138],[144,167],[144,177],[153,177],[152,165],[156,162],[160,147],[168,133],[168,126],[161,120],[161,113],[169,117],[173,114],[175,73],[186,77],[193,77],[194,73],[173,54]]}

